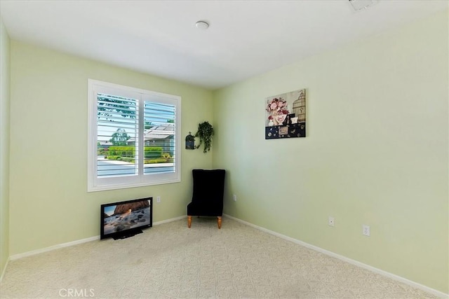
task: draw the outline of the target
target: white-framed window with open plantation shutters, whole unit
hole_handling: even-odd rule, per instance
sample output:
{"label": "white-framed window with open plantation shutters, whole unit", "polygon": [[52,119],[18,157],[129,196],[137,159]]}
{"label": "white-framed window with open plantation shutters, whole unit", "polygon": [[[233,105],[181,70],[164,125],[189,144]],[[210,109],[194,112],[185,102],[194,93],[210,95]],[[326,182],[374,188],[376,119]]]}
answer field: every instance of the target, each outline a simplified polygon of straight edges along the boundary
{"label": "white-framed window with open plantation shutters, whole unit", "polygon": [[180,97],[89,79],[88,103],[88,191],[180,181]]}

